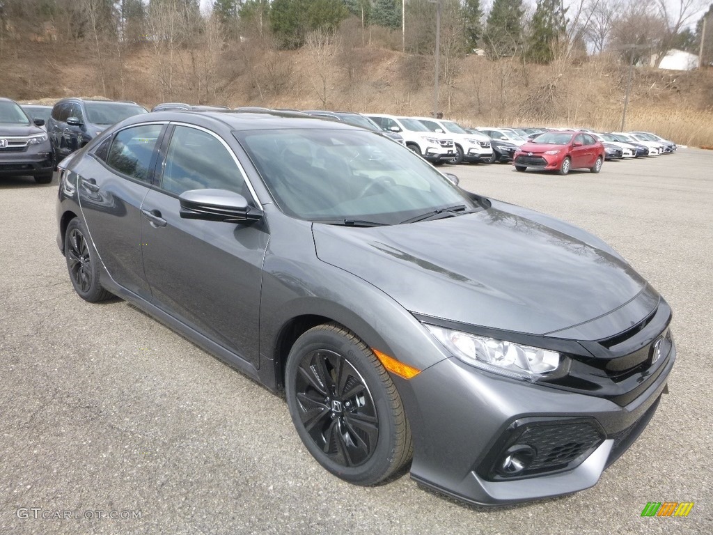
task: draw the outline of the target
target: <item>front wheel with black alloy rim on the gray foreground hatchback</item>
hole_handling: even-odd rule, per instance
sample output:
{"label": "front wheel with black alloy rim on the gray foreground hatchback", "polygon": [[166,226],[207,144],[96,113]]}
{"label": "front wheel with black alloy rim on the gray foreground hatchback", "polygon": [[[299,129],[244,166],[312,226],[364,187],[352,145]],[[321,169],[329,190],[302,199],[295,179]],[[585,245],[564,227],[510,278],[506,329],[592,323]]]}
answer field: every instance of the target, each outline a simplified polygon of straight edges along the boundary
{"label": "front wheel with black alloy rim on the gray foreground hatchback", "polygon": [[284,383],[299,438],[340,479],[374,485],[411,459],[399,392],[353,332],[334,323],[305,332],[289,352]]}

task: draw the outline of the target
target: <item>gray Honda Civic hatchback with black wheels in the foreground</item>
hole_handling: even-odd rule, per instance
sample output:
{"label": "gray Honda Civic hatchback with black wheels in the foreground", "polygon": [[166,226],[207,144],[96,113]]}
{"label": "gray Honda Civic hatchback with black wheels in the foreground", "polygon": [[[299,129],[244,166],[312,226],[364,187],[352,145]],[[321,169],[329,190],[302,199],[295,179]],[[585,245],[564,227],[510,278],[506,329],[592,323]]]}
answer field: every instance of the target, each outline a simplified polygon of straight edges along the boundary
{"label": "gray Honda Civic hatchback with black wheels in the foreground", "polygon": [[[260,384],[337,477],[473,504],[594,485],[667,391],[667,302],[595,236],[297,113],[128,118],[60,165],[80,297]],[[96,329],[101,329],[100,325]]]}

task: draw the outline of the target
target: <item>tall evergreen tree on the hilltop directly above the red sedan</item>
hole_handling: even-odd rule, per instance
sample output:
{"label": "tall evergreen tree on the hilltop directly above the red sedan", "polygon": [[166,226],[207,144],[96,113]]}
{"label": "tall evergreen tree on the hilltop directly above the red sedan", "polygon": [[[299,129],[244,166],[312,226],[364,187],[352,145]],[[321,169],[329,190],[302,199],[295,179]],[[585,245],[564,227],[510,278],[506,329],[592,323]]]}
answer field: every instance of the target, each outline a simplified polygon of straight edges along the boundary
{"label": "tall evergreen tree on the hilltop directly above the red sedan", "polygon": [[563,42],[567,21],[560,0],[538,0],[530,21],[525,57],[535,63],[550,63]]}

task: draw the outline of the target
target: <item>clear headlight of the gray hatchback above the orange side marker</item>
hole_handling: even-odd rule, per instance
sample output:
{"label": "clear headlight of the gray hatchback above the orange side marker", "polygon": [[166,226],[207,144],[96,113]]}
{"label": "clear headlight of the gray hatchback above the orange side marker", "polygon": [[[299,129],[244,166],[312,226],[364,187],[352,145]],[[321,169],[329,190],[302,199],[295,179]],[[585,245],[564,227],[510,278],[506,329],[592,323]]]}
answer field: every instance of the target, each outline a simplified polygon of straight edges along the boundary
{"label": "clear headlight of the gray hatchback above the orange side marker", "polygon": [[560,365],[560,354],[556,351],[424,325],[454,357],[481,370],[534,381]]}

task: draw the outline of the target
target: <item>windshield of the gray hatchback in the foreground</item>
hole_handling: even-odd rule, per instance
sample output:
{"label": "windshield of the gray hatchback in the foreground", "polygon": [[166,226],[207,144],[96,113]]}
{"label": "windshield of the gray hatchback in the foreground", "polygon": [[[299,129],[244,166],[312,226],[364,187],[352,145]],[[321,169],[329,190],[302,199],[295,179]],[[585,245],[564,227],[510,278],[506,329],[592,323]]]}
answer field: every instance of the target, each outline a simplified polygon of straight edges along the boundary
{"label": "windshield of the gray hatchback in the foreground", "polygon": [[309,129],[234,134],[279,208],[295,218],[395,225],[444,208],[480,208],[429,163],[375,133]]}

